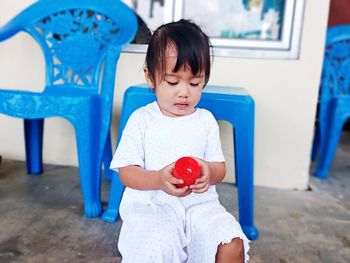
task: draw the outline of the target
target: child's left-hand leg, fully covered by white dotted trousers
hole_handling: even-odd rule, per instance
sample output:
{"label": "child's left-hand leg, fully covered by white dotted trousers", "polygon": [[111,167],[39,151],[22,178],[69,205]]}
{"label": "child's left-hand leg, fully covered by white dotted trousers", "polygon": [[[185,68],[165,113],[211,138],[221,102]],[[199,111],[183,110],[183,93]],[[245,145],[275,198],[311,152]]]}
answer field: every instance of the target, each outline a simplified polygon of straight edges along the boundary
{"label": "child's left-hand leg, fully covered by white dotted trousers", "polygon": [[123,214],[118,248],[123,263],[184,262],[186,240],[171,209],[139,205]]}

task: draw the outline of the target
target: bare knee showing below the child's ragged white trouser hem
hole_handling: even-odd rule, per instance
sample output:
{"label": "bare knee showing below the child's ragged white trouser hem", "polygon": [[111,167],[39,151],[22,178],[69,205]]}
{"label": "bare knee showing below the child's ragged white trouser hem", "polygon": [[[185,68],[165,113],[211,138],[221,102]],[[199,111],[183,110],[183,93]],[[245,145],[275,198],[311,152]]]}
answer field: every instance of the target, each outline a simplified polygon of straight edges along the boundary
{"label": "bare knee showing below the child's ragged white trouser hem", "polygon": [[243,263],[244,262],[244,246],[243,240],[240,238],[232,239],[229,244],[221,244],[215,257],[216,263]]}

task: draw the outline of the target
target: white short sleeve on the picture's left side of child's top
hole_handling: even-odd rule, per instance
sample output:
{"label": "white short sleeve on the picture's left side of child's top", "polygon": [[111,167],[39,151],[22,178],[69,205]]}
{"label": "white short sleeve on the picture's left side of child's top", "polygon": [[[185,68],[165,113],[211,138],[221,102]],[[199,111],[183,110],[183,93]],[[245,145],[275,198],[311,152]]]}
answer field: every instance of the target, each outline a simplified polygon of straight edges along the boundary
{"label": "white short sleeve on the picture's left side of child's top", "polygon": [[140,110],[131,114],[114,153],[110,169],[118,171],[118,168],[129,165],[144,167],[143,137],[145,121],[142,115],[144,114]]}

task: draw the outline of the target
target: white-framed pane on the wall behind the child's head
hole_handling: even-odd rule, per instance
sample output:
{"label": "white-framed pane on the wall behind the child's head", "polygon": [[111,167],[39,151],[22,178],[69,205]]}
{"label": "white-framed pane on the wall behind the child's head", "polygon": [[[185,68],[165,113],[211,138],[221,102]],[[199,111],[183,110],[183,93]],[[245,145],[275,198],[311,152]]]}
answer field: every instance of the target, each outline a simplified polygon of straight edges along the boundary
{"label": "white-framed pane on the wall behind the child's head", "polygon": [[[215,56],[296,59],[304,0],[124,0],[139,32],[126,51],[145,52],[151,32],[181,18],[210,37]],[[140,37],[143,36],[143,37]]]}

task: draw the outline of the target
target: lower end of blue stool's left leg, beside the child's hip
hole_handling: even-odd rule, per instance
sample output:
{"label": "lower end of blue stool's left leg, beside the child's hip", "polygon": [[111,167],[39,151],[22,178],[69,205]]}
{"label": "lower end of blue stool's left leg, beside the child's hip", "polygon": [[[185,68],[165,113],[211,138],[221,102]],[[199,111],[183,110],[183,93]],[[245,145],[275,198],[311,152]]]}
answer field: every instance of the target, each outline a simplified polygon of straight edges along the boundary
{"label": "lower end of blue stool's left leg, beside the child's hip", "polygon": [[119,179],[119,174],[113,172],[112,185],[110,187],[108,206],[102,215],[102,220],[113,223],[118,219],[120,201],[122,199],[124,185]]}

